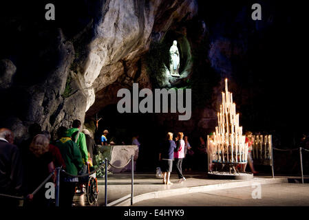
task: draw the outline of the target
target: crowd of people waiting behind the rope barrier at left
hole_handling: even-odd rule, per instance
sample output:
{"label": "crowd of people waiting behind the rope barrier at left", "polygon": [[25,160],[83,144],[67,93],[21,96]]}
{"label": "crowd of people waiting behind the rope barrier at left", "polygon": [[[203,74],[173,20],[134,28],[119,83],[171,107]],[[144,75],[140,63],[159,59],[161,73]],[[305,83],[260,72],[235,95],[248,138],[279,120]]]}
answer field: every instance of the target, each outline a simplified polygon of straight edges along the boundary
{"label": "crowd of people waiting behind the rope barrier at left", "polygon": [[[105,130],[103,135],[108,133]],[[30,137],[19,146],[14,145],[14,133],[0,129],[0,194],[23,197],[23,206],[54,206],[47,199],[43,186],[34,190],[52,173],[62,167],[70,175],[84,175],[96,165],[97,147],[87,129],[81,131],[81,121],[74,120],[70,129],[60,126],[56,141],[39,124],[29,127]],[[107,142],[106,136],[103,144]],[[83,179],[60,175],[59,206],[72,206],[75,193],[83,193]],[[87,177],[86,177],[87,178]],[[50,182],[56,182],[56,171]],[[20,201],[0,196],[0,206],[20,206]]]}

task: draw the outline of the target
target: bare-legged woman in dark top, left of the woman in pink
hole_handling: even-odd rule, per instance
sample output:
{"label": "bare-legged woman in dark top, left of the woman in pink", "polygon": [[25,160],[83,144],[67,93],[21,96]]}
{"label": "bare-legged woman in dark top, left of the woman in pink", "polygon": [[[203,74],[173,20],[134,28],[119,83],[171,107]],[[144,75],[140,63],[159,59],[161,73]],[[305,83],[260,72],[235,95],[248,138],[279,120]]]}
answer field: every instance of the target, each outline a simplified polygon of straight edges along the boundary
{"label": "bare-legged woman in dark top, left of the woman in pink", "polygon": [[173,168],[173,154],[176,144],[173,141],[173,133],[167,133],[167,140],[162,144],[162,148],[159,154],[159,161],[161,164],[161,170],[163,174],[163,184],[173,184],[169,181],[171,170]]}

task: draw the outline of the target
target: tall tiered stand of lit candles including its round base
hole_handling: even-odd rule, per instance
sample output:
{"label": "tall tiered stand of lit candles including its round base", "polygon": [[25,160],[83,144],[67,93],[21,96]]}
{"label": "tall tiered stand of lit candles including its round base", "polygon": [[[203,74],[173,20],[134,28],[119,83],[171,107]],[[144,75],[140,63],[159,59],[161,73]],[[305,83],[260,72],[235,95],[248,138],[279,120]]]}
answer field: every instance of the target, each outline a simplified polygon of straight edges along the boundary
{"label": "tall tiered stand of lit candles including its round base", "polygon": [[242,135],[242,126],[239,126],[239,113],[236,113],[236,104],[233,95],[228,91],[228,82],[225,80],[225,93],[222,92],[222,104],[217,113],[218,126],[213,135],[207,136],[207,155],[209,177],[216,179],[251,179],[252,173],[243,173],[239,170],[247,163],[248,144],[246,136]]}

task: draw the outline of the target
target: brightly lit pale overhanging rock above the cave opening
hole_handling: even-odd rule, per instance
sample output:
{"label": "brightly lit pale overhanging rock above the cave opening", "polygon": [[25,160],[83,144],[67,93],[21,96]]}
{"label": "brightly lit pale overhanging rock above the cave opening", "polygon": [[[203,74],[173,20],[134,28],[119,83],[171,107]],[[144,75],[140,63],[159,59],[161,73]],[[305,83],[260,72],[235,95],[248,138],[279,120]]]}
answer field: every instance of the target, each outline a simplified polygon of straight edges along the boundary
{"label": "brightly lit pale overhanging rock above the cave opening", "polygon": [[[163,9],[164,8],[164,9]],[[95,27],[95,36],[89,43],[89,56],[81,72],[85,87],[92,87],[96,94],[125,74],[125,83],[133,83],[138,70],[138,61],[149,50],[151,34],[158,33],[160,40],[173,23],[190,13],[197,12],[195,1],[110,1],[104,5],[104,17]],[[162,22],[164,20],[164,22]],[[140,77],[140,80],[142,77]],[[94,92],[93,92],[94,91]],[[94,104],[89,95],[87,107]]]}

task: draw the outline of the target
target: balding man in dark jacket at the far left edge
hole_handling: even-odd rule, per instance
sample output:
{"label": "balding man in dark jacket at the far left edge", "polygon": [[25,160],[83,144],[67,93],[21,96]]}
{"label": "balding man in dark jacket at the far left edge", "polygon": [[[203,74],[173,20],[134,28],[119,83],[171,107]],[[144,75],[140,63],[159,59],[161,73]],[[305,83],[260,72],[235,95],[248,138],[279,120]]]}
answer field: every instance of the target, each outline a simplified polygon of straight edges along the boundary
{"label": "balding man in dark jacket at the far left edge", "polygon": [[[23,182],[19,148],[13,144],[14,134],[0,129],[0,194],[21,195]],[[17,206],[19,200],[0,196],[0,207]]]}

